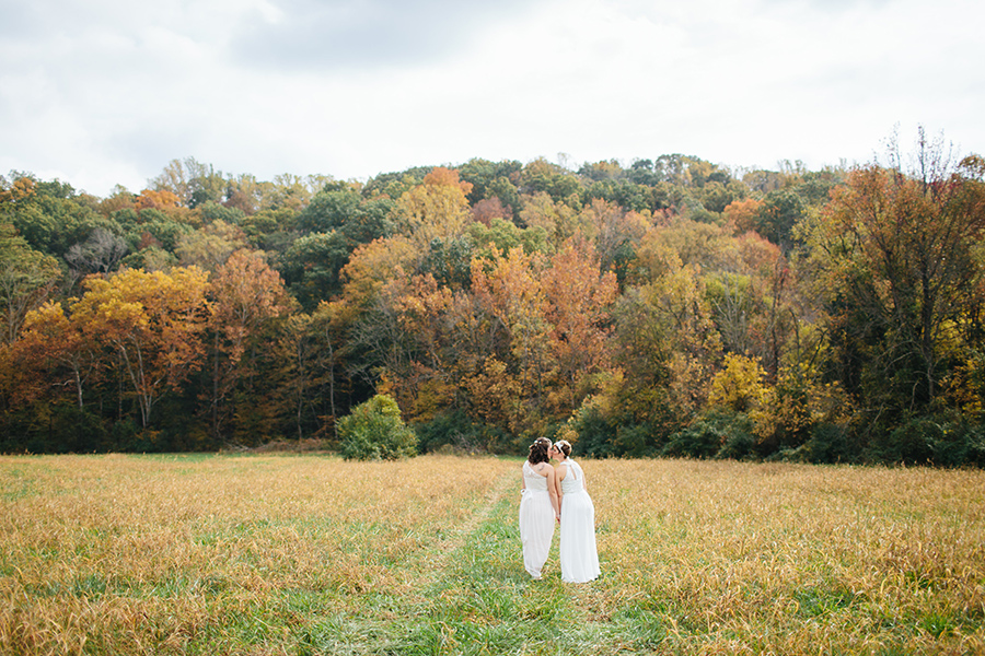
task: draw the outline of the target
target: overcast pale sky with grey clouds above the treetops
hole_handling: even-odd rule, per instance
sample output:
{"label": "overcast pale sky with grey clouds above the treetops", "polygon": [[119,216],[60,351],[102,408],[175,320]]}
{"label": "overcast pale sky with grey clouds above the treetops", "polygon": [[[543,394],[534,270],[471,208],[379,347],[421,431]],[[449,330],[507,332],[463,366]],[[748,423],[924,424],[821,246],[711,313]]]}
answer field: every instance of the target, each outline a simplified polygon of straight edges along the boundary
{"label": "overcast pale sky with grey clouds above the treetops", "polygon": [[[981,0],[0,0],[0,173],[985,154]],[[904,148],[906,150],[906,148]]]}

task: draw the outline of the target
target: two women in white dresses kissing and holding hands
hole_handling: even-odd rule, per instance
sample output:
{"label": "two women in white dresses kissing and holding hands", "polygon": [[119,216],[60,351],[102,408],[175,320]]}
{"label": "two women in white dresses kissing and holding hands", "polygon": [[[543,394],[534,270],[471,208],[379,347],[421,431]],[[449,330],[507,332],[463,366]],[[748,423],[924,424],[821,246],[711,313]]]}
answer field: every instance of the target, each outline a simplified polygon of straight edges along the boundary
{"label": "two women in white dresses kissing and holding hands", "polygon": [[[520,540],[523,566],[540,578],[554,539],[554,524],[560,520],[561,581],[586,583],[600,574],[595,507],[586,491],[584,473],[570,455],[571,445],[566,441],[552,445],[546,437],[538,437],[530,446],[523,464]],[[557,459],[557,469],[551,466],[552,458]]]}

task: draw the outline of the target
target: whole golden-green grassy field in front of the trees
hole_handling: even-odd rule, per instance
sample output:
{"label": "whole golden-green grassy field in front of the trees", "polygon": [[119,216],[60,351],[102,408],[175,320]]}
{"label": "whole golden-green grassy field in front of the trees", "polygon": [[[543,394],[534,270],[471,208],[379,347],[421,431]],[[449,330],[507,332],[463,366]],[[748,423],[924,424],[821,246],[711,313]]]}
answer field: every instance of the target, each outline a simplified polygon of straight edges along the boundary
{"label": "whole golden-green grassy field in front of the trees", "polygon": [[0,652],[985,653],[985,472],[582,465],[571,586],[518,459],[0,458]]}

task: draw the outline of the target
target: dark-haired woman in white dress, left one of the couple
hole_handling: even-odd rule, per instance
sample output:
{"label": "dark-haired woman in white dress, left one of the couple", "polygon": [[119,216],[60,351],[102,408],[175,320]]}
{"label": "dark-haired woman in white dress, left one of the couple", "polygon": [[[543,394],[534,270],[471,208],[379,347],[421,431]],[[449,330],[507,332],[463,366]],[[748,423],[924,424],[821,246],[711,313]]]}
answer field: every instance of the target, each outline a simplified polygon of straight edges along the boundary
{"label": "dark-haired woman in white dress, left one of the couple", "polygon": [[523,566],[534,578],[547,562],[554,524],[559,517],[557,485],[551,466],[551,441],[538,437],[530,446],[523,462],[523,487],[520,497],[520,541],[523,543]]}

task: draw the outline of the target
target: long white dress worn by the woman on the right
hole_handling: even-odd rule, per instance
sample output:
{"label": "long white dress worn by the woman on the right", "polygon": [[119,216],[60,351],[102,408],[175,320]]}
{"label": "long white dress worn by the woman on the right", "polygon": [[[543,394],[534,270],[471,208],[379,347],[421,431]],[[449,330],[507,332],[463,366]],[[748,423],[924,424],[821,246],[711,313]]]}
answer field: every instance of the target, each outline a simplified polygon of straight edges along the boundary
{"label": "long white dress worn by the woman on the right", "polygon": [[595,548],[595,505],[584,489],[584,473],[573,460],[561,481],[561,527],[558,555],[561,581],[587,583],[598,578],[599,552]]}

